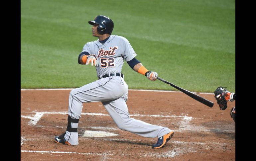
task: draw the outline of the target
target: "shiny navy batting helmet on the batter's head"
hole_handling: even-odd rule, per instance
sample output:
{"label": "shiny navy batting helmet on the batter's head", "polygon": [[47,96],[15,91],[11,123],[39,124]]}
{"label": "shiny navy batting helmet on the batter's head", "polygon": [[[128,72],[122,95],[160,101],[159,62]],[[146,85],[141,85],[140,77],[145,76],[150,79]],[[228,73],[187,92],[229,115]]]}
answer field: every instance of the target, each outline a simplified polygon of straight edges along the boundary
{"label": "shiny navy batting helmet on the batter's head", "polygon": [[97,31],[99,34],[110,34],[112,33],[114,29],[114,23],[113,21],[106,17],[106,16],[97,16],[94,21],[88,21],[89,24],[94,25],[98,24],[99,26],[97,27]]}

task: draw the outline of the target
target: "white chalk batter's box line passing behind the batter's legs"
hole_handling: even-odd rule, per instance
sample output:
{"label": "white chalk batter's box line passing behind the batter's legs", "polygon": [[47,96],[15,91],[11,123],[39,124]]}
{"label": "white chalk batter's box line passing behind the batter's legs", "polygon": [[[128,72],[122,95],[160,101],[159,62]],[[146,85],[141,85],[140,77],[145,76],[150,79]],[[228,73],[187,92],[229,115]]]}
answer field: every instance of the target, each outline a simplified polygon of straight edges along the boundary
{"label": "white chalk batter's box line passing behind the batter's legs", "polygon": [[[26,118],[30,119],[28,125],[36,125],[37,122],[43,117],[44,114],[59,114],[59,115],[67,115],[68,113],[65,112],[35,112],[33,111],[32,113],[36,113],[34,117],[31,116],[23,116],[21,115],[21,118]],[[81,115],[92,115],[92,116],[109,116],[108,114],[102,114],[102,113],[81,113]],[[135,116],[135,117],[162,117],[162,118],[182,118],[183,120],[186,121],[191,121],[192,117],[188,116],[176,116],[176,115],[141,115],[141,114],[132,114],[130,116]]]}

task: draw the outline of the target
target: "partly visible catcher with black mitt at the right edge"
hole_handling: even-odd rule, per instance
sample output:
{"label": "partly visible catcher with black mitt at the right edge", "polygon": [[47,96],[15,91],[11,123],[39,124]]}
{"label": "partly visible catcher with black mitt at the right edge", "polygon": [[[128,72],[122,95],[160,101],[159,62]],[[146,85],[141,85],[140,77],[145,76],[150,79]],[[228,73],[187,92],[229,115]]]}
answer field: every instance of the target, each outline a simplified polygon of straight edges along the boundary
{"label": "partly visible catcher with black mitt at the right edge", "polygon": [[[236,99],[236,94],[231,93],[226,90],[226,88],[219,86],[214,91],[214,97],[217,100],[217,104],[219,105],[219,108],[221,110],[225,110],[227,108],[227,102],[231,101],[233,102]],[[230,117],[236,122],[236,110],[235,107],[231,108],[230,110]]]}

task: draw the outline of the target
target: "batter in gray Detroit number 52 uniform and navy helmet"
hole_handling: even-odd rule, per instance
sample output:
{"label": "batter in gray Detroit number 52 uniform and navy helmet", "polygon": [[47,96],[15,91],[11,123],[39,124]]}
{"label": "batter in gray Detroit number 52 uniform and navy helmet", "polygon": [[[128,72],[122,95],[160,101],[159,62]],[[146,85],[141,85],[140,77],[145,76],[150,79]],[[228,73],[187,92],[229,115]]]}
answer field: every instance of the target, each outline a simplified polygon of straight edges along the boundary
{"label": "batter in gray Detroit number 52 uniform and navy helmet", "polygon": [[121,70],[125,60],[134,71],[145,75],[151,81],[157,79],[157,73],[147,70],[135,58],[137,54],[126,38],[111,35],[114,23],[110,18],[100,15],[88,23],[92,25],[92,36],[98,40],[83,46],[78,63],[95,66],[98,80],[70,92],[66,132],[56,136],[55,142],[78,145],[77,127],[83,103],[102,102],[121,130],[144,137],[158,137],[157,143],[152,147],[164,147],[174,135],[174,131],[130,118],[126,105],[128,86]]}

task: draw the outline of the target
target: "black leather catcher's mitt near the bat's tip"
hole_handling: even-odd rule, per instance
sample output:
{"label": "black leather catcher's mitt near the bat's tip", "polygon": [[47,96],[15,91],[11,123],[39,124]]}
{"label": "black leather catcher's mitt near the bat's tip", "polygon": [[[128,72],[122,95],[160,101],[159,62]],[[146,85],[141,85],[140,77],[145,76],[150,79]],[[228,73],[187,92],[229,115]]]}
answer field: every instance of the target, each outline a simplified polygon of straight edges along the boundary
{"label": "black leather catcher's mitt near the bat's tip", "polygon": [[217,100],[217,104],[219,105],[219,108],[221,110],[225,110],[227,108],[227,100],[225,97],[228,95],[228,92],[226,90],[226,87],[221,87],[219,86],[215,91],[214,91],[214,97]]}

